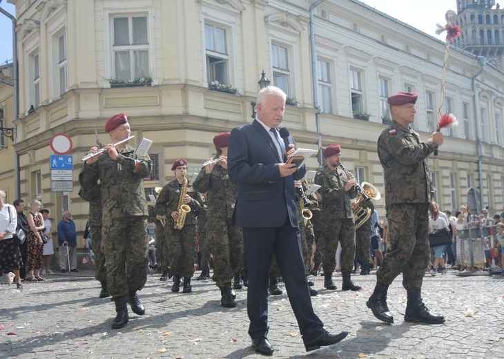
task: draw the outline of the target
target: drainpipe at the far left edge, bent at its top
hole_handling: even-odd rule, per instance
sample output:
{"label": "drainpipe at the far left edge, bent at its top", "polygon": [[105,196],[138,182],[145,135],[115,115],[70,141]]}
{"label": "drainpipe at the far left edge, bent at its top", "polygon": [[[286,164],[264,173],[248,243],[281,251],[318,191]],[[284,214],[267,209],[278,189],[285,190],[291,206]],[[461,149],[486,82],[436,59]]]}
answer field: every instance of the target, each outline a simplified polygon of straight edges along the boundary
{"label": "drainpipe at the far left edge, bent at its top", "polygon": [[[0,3],[2,0],[0,0]],[[14,119],[12,120],[12,124],[14,124],[14,121],[17,119],[19,116],[19,77],[18,77],[18,66],[17,66],[17,33],[16,33],[16,26],[17,26],[17,21],[16,18],[13,17],[11,14],[9,14],[6,10],[3,10],[3,8],[0,8],[0,12],[6,17],[12,21],[12,89],[14,92]],[[16,142],[17,139],[17,126],[14,126],[14,143]],[[16,188],[15,191],[15,197],[16,199],[19,199],[19,196],[21,194],[21,181],[19,178],[19,154],[16,152],[16,155],[14,156],[14,186]]]}

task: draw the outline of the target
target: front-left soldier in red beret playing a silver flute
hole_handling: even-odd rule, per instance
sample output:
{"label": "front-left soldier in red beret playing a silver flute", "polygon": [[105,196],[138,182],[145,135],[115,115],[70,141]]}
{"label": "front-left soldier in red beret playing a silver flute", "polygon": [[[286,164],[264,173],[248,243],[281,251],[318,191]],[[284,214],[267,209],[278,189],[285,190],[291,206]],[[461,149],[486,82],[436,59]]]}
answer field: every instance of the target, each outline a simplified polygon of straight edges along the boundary
{"label": "front-left soldier in red beret playing a silver flute", "polygon": [[[121,143],[131,134],[126,114],[110,117],[105,130],[111,143],[84,162],[79,181],[85,190],[93,188],[98,179],[101,182],[101,246],[107,263],[108,292],[117,313],[112,328],[119,329],[129,321],[127,303],[139,316],[145,313],[137,291],[147,280],[148,208],[144,178],[151,173],[152,162],[148,155],[139,157],[135,148]],[[92,147],[89,153],[97,150]]]}

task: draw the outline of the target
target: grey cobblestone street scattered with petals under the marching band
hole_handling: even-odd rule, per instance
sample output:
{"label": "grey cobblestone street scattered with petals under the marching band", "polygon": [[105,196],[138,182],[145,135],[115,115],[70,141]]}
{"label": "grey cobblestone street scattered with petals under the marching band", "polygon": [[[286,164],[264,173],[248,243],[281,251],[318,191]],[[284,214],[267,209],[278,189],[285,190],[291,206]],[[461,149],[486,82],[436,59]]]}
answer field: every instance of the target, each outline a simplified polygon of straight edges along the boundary
{"label": "grey cobblestone street scattered with petals under the marching band", "polygon": [[[220,307],[211,280],[193,280],[193,293],[170,291],[171,282],[148,275],[139,298],[146,314],[130,311],[126,327],[110,329],[113,302],[97,298],[91,271],[46,275],[46,282],[1,284],[0,358],[261,358],[247,334],[246,289],[238,307]],[[360,292],[326,291],[312,298],[316,313],[332,333],[349,336],[332,347],[306,353],[289,299],[269,298],[269,340],[273,358],[503,358],[504,275],[459,278],[456,271],[426,275],[423,297],[443,313],[446,324],[403,321],[406,292],[400,278],[389,289],[395,323],[382,324],[366,307],[376,275],[353,275]],[[341,276],[336,275],[338,288]]]}

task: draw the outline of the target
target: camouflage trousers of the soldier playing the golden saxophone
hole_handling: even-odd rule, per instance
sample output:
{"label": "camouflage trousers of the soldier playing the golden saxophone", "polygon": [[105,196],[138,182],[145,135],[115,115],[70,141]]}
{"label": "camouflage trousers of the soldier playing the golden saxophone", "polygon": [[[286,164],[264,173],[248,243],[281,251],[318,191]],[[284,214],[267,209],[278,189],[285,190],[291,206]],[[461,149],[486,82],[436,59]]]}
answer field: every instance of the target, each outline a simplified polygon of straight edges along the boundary
{"label": "camouflage trousers of the soldier playing the golden saxophone", "polygon": [[192,277],[194,274],[194,242],[196,225],[186,224],[182,229],[168,226],[168,262],[173,275]]}

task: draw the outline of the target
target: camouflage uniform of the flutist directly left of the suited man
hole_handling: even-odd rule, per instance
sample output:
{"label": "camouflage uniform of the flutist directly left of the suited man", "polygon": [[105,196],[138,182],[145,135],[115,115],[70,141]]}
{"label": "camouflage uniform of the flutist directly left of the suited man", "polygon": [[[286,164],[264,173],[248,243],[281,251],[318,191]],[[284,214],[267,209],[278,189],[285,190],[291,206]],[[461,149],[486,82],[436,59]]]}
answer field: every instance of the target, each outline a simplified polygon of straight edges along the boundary
{"label": "camouflage uniform of the flutist directly left of the suited man", "polygon": [[227,170],[215,164],[210,174],[205,168],[201,169],[194,187],[207,193],[206,234],[213,255],[213,273],[217,287],[225,288],[231,284],[235,273],[242,269],[242,229],[231,225],[237,186],[229,179]]}

